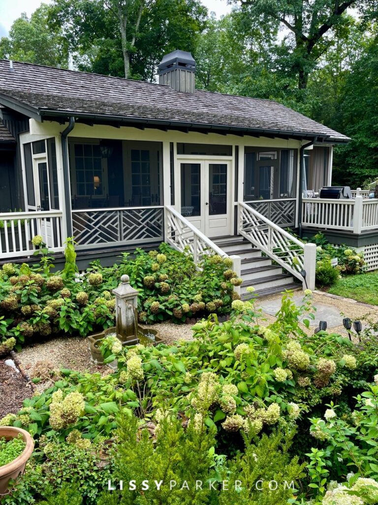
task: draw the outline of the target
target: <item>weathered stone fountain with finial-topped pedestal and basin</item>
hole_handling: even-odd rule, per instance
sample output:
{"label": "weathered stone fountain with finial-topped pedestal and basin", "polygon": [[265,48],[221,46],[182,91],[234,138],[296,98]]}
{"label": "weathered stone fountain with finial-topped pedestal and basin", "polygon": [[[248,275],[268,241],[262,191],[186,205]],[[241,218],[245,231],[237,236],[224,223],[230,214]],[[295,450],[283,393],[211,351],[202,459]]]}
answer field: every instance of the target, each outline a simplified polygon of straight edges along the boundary
{"label": "weathered stone fountain with finial-topped pedestal and basin", "polygon": [[115,296],[115,326],[88,336],[92,361],[103,364],[100,346],[103,338],[113,334],[122,345],[155,345],[162,341],[157,330],[142,328],[138,324],[138,291],[130,285],[128,275],[122,275],[119,286],[113,289]]}

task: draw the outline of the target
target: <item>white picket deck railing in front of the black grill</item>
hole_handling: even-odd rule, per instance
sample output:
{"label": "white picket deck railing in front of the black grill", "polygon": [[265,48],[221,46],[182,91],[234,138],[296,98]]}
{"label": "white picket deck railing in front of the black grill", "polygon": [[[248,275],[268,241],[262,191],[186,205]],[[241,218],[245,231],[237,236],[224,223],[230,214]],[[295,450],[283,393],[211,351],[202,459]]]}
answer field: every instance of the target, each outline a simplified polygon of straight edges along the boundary
{"label": "white picket deck railing in front of the black grill", "polygon": [[361,195],[350,200],[303,198],[302,226],[356,234],[378,230],[378,199],[364,199]]}

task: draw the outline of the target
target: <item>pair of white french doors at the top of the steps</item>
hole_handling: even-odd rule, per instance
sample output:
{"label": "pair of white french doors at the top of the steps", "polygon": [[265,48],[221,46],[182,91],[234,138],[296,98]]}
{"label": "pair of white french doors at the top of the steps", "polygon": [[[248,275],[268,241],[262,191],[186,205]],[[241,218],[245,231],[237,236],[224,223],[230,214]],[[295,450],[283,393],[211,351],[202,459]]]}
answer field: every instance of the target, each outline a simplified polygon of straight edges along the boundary
{"label": "pair of white french doors at the top of the steps", "polygon": [[181,160],[181,214],[206,236],[231,233],[229,160]]}

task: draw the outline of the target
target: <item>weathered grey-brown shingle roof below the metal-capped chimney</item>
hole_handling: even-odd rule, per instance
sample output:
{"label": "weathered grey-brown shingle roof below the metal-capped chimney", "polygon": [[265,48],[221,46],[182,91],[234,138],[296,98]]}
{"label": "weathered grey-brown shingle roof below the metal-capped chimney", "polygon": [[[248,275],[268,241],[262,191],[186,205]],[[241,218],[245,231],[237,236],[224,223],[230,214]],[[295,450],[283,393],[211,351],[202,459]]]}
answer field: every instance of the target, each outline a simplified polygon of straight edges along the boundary
{"label": "weathered grey-brown shingle roof below the metal-capped chimney", "polygon": [[29,63],[14,62],[13,68],[10,72],[9,62],[0,60],[0,100],[9,97],[44,116],[111,116],[349,140],[272,100],[202,90],[182,93],[160,84]]}

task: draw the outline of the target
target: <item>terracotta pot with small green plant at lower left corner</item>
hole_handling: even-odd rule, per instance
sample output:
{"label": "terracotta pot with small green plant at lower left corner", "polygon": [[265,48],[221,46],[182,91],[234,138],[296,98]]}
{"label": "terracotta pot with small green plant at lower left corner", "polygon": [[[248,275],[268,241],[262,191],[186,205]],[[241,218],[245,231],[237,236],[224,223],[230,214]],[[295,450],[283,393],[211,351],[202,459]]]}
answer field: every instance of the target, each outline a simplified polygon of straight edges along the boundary
{"label": "terracotta pot with small green plant at lower left corner", "polygon": [[[18,437],[20,437],[20,439],[23,441],[22,444],[16,444],[15,442],[12,442]],[[11,444],[11,446],[9,447],[9,450],[6,451],[3,449],[0,452],[3,455],[5,455],[7,452],[11,458],[13,455],[15,458],[5,465],[0,466],[0,500],[3,495],[8,494],[7,488],[9,481],[11,479],[17,479],[19,475],[22,475],[24,473],[25,465],[34,449],[34,440],[32,436],[22,428],[16,428],[13,426],[0,427],[0,441],[3,440],[4,443],[4,439],[6,440],[7,445]],[[20,450],[22,450],[21,453]],[[4,459],[7,461],[6,458]]]}

